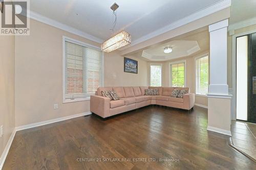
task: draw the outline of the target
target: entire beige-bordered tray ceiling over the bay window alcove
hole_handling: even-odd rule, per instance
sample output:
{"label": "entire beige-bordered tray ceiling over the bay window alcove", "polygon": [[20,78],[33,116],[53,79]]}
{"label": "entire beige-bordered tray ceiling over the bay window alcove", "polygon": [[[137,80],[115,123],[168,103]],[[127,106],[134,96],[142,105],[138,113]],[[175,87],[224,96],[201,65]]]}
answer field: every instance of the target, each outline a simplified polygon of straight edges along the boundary
{"label": "entire beige-bordered tray ceiling over the bay window alcove", "polygon": [[[169,54],[163,53],[163,48],[166,46],[172,46],[173,52]],[[168,61],[202,55],[202,53],[208,53],[209,48],[210,36],[208,27],[203,27],[143,48],[132,54],[132,56],[145,61]]]}

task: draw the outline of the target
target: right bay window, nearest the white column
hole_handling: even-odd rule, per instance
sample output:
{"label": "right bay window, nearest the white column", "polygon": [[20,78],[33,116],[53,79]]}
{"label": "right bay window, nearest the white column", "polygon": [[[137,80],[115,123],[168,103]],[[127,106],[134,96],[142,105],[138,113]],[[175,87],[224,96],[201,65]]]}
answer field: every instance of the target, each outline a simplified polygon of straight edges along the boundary
{"label": "right bay window, nearest the white column", "polygon": [[196,58],[196,94],[208,93],[208,55]]}

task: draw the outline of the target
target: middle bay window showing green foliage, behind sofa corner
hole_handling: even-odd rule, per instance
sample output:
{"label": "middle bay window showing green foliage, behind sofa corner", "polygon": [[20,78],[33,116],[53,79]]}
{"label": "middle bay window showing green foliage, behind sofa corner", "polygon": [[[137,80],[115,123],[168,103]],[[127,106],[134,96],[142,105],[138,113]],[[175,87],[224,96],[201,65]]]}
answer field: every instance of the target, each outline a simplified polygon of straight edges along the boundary
{"label": "middle bay window showing green foliage, behind sofa corner", "polygon": [[170,63],[170,86],[185,86],[185,61]]}

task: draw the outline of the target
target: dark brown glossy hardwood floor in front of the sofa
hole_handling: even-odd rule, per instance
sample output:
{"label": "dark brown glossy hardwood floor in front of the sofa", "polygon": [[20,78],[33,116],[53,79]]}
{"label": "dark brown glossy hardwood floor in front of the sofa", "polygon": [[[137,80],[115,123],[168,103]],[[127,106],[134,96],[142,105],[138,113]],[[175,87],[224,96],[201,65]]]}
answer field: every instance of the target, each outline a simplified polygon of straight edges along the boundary
{"label": "dark brown glossy hardwood floor in front of the sofa", "polygon": [[206,128],[207,110],[197,106],[78,117],[17,132],[3,169],[256,169],[228,136]]}

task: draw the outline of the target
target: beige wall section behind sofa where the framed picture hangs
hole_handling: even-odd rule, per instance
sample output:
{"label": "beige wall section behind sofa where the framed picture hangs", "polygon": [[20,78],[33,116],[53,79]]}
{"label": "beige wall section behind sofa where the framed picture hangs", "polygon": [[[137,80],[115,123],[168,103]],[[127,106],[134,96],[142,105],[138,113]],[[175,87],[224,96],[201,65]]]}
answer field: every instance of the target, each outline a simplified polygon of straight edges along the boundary
{"label": "beige wall section behind sofa where the framed picture hangs", "polygon": [[105,84],[104,86],[147,86],[147,62],[135,57],[128,56],[138,61],[138,74],[123,71],[124,57],[119,51],[105,53]]}

